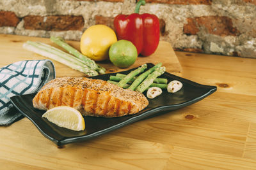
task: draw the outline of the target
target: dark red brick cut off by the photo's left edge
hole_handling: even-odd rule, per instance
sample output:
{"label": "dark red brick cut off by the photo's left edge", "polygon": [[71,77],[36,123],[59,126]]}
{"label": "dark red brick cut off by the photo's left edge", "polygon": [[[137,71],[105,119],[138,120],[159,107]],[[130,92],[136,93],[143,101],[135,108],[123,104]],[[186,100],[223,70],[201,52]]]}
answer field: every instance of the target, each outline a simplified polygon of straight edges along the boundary
{"label": "dark red brick cut off by the photo's left edge", "polygon": [[20,19],[11,11],[0,11],[0,27],[16,27]]}

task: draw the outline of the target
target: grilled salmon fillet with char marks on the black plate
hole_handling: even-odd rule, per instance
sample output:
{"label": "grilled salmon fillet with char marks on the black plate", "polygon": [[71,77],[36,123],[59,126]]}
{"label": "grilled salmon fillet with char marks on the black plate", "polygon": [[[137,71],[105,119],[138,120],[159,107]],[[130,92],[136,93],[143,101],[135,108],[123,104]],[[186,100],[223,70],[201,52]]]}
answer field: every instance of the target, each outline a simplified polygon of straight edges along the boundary
{"label": "grilled salmon fillet with char marks on the black plate", "polygon": [[33,99],[33,106],[39,110],[70,106],[82,115],[95,117],[131,115],[147,105],[147,98],[140,92],[122,89],[104,80],[77,77],[51,80]]}

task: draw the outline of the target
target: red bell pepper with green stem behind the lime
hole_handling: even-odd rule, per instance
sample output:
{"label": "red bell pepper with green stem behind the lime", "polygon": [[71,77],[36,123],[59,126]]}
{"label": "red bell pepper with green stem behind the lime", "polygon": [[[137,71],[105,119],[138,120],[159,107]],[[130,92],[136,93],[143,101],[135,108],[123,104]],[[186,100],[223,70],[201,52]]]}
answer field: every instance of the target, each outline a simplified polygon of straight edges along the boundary
{"label": "red bell pepper with green stem behind the lime", "polygon": [[138,55],[151,55],[156,51],[159,43],[159,19],[149,13],[139,14],[140,6],[145,0],[136,4],[135,12],[131,15],[117,15],[114,27],[118,39],[131,41],[137,48]]}

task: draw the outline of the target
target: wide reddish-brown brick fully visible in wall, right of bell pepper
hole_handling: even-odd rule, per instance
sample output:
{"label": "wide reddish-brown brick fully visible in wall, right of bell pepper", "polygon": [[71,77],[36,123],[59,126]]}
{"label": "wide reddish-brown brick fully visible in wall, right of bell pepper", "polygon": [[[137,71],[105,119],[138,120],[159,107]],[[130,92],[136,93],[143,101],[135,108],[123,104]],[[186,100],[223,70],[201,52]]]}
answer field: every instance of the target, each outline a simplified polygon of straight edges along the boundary
{"label": "wide reddish-brown brick fully visible in wall, right of bell pepper", "polygon": [[231,18],[220,16],[207,16],[187,18],[188,24],[184,25],[184,33],[195,35],[199,30],[218,36],[237,36],[240,32],[233,27]]}

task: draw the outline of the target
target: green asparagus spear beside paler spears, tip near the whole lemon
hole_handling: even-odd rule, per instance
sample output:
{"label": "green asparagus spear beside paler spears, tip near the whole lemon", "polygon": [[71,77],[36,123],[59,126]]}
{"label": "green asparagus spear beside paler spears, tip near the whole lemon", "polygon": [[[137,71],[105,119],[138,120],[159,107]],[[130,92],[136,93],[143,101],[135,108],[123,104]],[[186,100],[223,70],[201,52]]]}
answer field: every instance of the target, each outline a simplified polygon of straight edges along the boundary
{"label": "green asparagus spear beside paler spears, tip near the whole lemon", "polygon": [[99,65],[96,64],[96,62],[92,59],[89,59],[88,57],[86,57],[85,55],[83,55],[82,53],[80,53],[78,50],[76,50],[75,48],[73,48],[72,46],[68,45],[64,39],[60,38],[60,37],[54,37],[51,36],[51,41],[56,43],[57,45],[61,46],[62,48],[64,48],[65,50],[67,50],[69,53],[71,53],[72,55],[76,56],[78,59],[81,59],[84,61],[84,63],[88,66],[91,67],[92,69],[95,69],[96,71],[99,71],[100,74],[104,74],[106,69],[104,67],[101,67]]}

